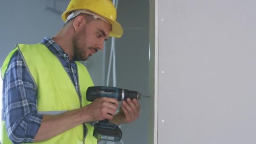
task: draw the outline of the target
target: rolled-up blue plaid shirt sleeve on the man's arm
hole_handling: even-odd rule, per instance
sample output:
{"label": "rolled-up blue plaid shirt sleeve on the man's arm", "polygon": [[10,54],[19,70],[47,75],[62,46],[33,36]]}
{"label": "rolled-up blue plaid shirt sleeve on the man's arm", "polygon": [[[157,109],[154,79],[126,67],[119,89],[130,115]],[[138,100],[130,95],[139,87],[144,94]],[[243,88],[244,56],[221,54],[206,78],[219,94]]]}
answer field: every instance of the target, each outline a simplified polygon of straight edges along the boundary
{"label": "rolled-up blue plaid shirt sleeve on the man's arm", "polygon": [[14,144],[33,142],[42,123],[37,92],[21,55],[16,51],[3,79],[3,120]]}

